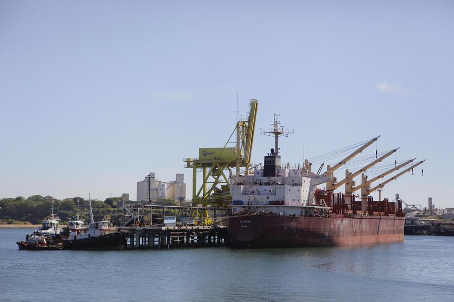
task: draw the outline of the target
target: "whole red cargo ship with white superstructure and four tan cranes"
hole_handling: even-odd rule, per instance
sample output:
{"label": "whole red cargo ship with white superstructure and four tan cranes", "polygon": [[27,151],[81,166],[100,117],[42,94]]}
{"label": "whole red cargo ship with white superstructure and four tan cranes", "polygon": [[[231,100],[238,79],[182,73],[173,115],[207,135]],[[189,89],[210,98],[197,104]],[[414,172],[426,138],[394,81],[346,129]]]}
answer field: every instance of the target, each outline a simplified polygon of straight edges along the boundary
{"label": "whole red cargo ship with white superstructure and four tan cranes", "polygon": [[[337,181],[336,169],[360,154],[378,137],[354,146],[353,152],[334,166],[326,166],[326,172],[312,172],[312,164],[305,160],[303,167],[282,166],[278,138],[293,131],[279,126],[274,116],[273,129],[262,134],[275,137],[275,146],[264,157],[258,169],[245,171],[230,178],[232,214],[227,229],[232,247],[280,248],[322,247],[401,242],[404,240],[405,214],[402,201],[373,200],[369,194],[388,182],[413,171],[422,164],[406,161],[368,180],[364,172],[397,149],[390,150],[356,172],[346,171],[346,178]],[[399,169],[403,172],[392,176],[371,188],[374,181]],[[355,186],[354,177],[362,174],[362,183]],[[334,193],[345,185],[345,193]],[[323,186],[323,188],[321,188]],[[355,191],[361,189],[361,196]],[[359,198],[361,197],[361,198]],[[356,200],[358,198],[358,200]]]}

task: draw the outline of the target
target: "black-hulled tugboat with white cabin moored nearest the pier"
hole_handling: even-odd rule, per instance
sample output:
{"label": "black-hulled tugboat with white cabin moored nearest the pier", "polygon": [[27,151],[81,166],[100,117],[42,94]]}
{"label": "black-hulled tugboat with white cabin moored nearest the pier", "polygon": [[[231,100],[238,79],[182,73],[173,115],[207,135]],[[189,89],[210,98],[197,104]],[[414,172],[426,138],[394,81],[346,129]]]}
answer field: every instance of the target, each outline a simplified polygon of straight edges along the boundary
{"label": "black-hulled tugboat with white cabin moored nearest the pier", "polygon": [[[83,221],[74,220],[68,225],[67,234],[63,235],[63,247],[65,250],[116,250],[124,244],[126,234],[111,228],[108,220],[93,220],[91,200],[88,200],[90,211],[90,223],[83,225]],[[78,223],[79,222],[79,223]],[[80,223],[82,222],[82,223]]]}

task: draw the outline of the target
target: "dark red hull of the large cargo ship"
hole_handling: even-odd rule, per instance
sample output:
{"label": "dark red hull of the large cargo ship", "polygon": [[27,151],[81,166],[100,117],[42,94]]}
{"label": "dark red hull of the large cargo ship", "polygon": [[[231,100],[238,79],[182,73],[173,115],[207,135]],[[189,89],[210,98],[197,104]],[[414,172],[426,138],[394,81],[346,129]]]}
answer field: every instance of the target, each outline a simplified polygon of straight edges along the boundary
{"label": "dark red hull of the large cargo ship", "polygon": [[233,247],[323,247],[401,242],[405,217],[241,215],[228,219]]}

